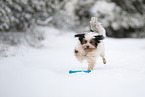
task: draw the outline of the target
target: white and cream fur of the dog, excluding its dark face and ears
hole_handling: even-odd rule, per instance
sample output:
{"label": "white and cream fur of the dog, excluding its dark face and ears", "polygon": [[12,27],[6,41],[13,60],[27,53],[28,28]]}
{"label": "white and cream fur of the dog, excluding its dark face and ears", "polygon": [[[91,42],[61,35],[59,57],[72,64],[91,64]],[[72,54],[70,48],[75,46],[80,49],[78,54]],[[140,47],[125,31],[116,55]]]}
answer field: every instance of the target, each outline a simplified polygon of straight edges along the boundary
{"label": "white and cream fur of the dog, excluding its dark face and ears", "polygon": [[[95,20],[94,20],[95,19]],[[95,21],[95,22],[94,22]],[[91,29],[97,31],[98,33],[94,32],[88,32],[85,34],[85,39],[90,40],[94,38],[94,36],[97,35],[103,35],[106,36],[105,29],[100,25],[100,23],[97,21],[97,18],[92,18],[90,21]],[[86,52],[80,42],[75,47],[75,50],[78,51],[78,53],[75,53],[76,58],[82,62],[84,59],[88,61],[88,70],[93,70],[95,64],[96,64],[96,58],[101,56],[103,59],[104,64],[106,64],[105,60],[105,48],[104,48],[104,42],[101,40],[101,42],[98,44],[97,48],[92,50],[91,52]]]}

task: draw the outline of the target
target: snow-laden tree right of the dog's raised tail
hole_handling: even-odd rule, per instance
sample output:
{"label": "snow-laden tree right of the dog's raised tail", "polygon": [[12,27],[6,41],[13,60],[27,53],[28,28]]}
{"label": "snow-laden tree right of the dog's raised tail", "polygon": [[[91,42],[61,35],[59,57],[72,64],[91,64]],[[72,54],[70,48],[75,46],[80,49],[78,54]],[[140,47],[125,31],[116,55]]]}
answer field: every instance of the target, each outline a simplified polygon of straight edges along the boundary
{"label": "snow-laden tree right of the dog's raised tail", "polygon": [[145,37],[144,2],[142,0],[112,1],[97,1],[91,8],[92,15],[100,19],[107,29],[108,36]]}

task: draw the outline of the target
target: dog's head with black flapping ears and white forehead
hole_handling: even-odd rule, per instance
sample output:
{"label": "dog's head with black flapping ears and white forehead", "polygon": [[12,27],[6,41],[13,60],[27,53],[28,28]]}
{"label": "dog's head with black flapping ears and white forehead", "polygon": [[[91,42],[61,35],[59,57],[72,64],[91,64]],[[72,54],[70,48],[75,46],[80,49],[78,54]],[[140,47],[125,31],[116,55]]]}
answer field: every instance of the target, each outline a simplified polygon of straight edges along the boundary
{"label": "dog's head with black flapping ears and white forehead", "polygon": [[78,37],[80,44],[84,48],[84,50],[92,51],[97,48],[98,44],[101,40],[104,39],[103,35],[99,35],[97,33],[89,32],[86,34],[76,34],[75,37]]}

